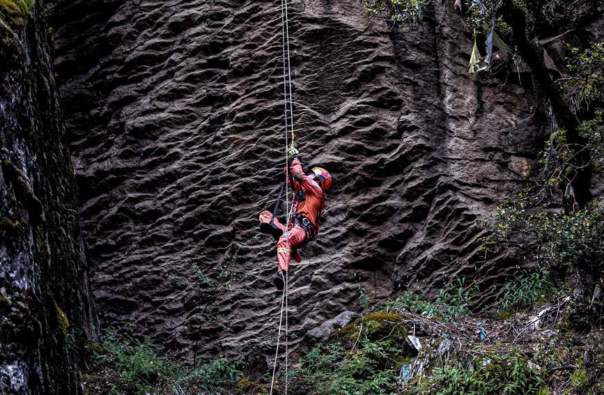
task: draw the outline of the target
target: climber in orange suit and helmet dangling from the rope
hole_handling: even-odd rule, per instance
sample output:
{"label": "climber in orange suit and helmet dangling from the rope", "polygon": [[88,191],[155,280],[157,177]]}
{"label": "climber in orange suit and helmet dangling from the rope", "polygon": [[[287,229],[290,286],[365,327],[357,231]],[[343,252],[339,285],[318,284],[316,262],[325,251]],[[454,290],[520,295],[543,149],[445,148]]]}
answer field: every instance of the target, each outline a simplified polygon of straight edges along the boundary
{"label": "climber in orange suit and helmet dangling from the rope", "polygon": [[[288,151],[290,157],[289,166],[293,176],[294,189],[297,192],[294,202],[294,214],[286,231],[285,226],[277,218],[272,218],[270,211],[260,213],[261,230],[271,233],[277,239],[277,276],[273,283],[277,289],[284,287],[285,276],[289,268],[292,256],[300,263],[301,258],[297,253],[307,245],[319,231],[319,222],[323,210],[325,210],[325,195],[323,192],[332,185],[332,176],[327,170],[314,167],[309,175],[302,171],[302,164],[298,159],[298,151],[291,147]],[[288,178],[288,177],[286,177]],[[289,178],[287,184],[291,187]]]}

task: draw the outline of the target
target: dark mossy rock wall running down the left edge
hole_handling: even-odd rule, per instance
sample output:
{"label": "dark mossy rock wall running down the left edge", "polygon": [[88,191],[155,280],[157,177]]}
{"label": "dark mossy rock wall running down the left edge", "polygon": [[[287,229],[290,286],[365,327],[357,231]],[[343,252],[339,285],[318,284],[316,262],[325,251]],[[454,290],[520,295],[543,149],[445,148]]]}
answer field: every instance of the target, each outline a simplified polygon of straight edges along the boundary
{"label": "dark mossy rock wall running down the left edge", "polygon": [[0,9],[0,393],[77,394],[79,350],[94,333],[95,311],[52,45],[41,6],[29,13],[6,9]]}

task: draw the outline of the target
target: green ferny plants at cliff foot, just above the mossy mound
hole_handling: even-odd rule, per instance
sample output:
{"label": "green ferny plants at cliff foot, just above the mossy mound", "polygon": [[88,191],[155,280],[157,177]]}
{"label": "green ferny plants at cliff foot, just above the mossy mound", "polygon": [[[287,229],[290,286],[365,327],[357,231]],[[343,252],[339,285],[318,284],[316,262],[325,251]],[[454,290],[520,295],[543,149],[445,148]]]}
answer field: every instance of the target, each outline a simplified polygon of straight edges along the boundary
{"label": "green ferny plants at cliff foot, just above the mossy mound", "polygon": [[445,321],[455,321],[464,313],[470,313],[472,295],[479,291],[476,284],[465,285],[465,279],[456,278],[455,281],[442,288],[434,302],[423,300],[423,293],[409,293],[405,291],[395,300],[384,304],[386,311],[396,309],[410,309],[428,317],[442,318]]}

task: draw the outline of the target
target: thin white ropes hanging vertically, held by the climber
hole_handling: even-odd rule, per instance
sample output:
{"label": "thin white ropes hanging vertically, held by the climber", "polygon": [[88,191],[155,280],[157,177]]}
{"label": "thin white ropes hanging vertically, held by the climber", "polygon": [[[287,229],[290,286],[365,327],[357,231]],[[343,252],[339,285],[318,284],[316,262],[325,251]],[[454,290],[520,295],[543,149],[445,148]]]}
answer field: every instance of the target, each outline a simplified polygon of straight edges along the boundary
{"label": "thin white ropes hanging vertically, held by the climber", "polygon": [[[293,130],[293,100],[292,100],[292,88],[291,88],[291,67],[290,67],[290,52],[289,52],[289,21],[288,21],[288,13],[287,13],[287,0],[281,0],[281,42],[282,42],[282,52],[283,52],[283,90],[284,90],[284,113],[285,113],[285,168],[286,168],[286,180],[289,179],[289,161],[288,161],[288,133],[291,129],[291,144],[294,143],[294,130]],[[287,65],[287,67],[286,67]],[[286,69],[287,69],[287,78],[286,78]],[[288,95],[289,88],[289,95]],[[289,96],[289,128],[288,128],[288,96]],[[294,185],[292,187],[292,192],[295,193]],[[295,196],[292,197],[291,207],[289,206],[288,196],[289,196],[289,188],[286,183],[286,191],[285,191],[285,207],[286,207],[286,224],[285,224],[285,233],[284,235],[288,236],[289,225],[291,222],[291,215],[295,212]],[[287,249],[291,251],[291,245],[289,242],[289,238],[287,239]],[[274,364],[272,366],[272,379],[270,381],[270,395],[272,395],[272,390],[274,387],[274,375],[277,372],[277,357],[279,356],[279,343],[281,341],[281,324],[283,323],[283,311],[285,304],[285,395],[287,395],[288,389],[288,271],[286,270],[284,276],[284,288],[283,295],[281,295],[281,312],[279,313],[279,331],[277,332],[277,348],[274,351]]]}

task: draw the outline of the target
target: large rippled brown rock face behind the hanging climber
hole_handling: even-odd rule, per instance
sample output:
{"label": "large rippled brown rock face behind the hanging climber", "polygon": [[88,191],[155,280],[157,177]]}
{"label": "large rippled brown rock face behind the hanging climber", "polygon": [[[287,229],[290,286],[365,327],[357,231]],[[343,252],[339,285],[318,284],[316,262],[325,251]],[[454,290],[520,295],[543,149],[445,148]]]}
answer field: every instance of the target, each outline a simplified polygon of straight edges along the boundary
{"label": "large rippled brown rock face behind the hanging climber", "polygon": [[[295,131],[334,183],[294,264],[289,330],[454,274],[492,284],[474,221],[520,189],[547,132],[515,75],[469,75],[453,2],[392,29],[355,1],[294,1]],[[278,2],[52,2],[61,95],[104,325],[180,355],[274,345],[281,295],[257,215],[284,165]],[[479,84],[477,83],[479,81]],[[282,219],[282,214],[281,214]]]}

